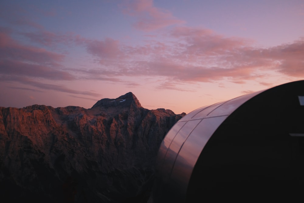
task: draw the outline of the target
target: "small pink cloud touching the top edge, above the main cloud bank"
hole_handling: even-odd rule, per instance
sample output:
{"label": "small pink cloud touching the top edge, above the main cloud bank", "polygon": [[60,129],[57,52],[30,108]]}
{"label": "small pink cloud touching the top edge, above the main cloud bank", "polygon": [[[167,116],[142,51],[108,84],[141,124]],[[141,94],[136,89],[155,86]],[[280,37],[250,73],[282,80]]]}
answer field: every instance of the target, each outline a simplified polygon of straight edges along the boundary
{"label": "small pink cloud touching the top edge, above the main cloud bank", "polygon": [[171,12],[154,7],[153,0],[125,1],[121,7],[123,7],[124,13],[137,18],[134,27],[139,30],[148,32],[175,24],[185,23],[185,21],[176,19]]}

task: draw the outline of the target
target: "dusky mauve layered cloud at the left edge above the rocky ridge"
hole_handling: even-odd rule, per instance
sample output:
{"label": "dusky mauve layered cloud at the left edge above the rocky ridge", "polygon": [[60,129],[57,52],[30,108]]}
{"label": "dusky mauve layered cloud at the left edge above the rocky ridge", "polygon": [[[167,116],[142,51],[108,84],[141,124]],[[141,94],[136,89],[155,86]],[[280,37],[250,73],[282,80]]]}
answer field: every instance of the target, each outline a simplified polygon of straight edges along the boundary
{"label": "dusky mauve layered cloud at the left edge above the rocky ridge", "polygon": [[[50,80],[75,80],[67,71],[60,70],[63,54],[28,46],[13,40],[7,29],[0,29],[0,77],[2,81],[19,81],[19,76]],[[30,80],[30,79],[28,79]],[[25,82],[25,79],[23,79]]]}

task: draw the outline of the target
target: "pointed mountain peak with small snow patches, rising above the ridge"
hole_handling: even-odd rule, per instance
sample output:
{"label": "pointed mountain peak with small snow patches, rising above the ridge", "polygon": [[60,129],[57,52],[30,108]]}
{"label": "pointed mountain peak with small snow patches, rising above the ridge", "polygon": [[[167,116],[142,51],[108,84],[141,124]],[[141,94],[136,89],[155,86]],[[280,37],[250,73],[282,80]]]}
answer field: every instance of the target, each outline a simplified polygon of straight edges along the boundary
{"label": "pointed mountain peak with small snow patches, rising above the ridge", "polygon": [[137,108],[142,108],[140,102],[132,92],[128,92],[125,95],[121,95],[116,99],[104,98],[96,102],[92,108],[96,107],[127,107],[135,105]]}

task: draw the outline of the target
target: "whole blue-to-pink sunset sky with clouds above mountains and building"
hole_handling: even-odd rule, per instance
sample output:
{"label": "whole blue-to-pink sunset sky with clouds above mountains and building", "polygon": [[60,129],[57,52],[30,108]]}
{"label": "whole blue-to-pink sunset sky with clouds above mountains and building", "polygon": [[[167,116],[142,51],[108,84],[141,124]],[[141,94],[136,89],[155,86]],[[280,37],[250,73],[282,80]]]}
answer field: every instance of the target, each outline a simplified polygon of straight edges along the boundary
{"label": "whole blue-to-pink sunset sky with clouds above mountains and building", "polygon": [[176,114],[304,78],[303,0],[2,0],[0,106]]}

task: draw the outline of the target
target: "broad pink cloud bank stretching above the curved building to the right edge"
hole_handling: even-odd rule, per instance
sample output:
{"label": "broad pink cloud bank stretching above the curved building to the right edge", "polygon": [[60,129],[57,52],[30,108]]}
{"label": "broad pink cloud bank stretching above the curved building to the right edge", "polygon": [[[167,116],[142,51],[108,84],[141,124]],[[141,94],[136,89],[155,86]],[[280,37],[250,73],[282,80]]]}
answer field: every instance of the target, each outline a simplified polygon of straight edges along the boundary
{"label": "broad pink cloud bank stretching above the curved building to the right edge", "polygon": [[[134,10],[144,10],[150,4]],[[292,77],[304,76],[303,39],[269,48],[252,46],[252,41],[225,37],[212,30],[175,27],[169,43],[146,41],[142,46],[124,46],[108,38],[86,42],[87,50],[111,69],[90,70],[88,77],[157,76],[178,83],[228,80],[244,84],[247,80],[262,80],[265,71],[277,71]],[[119,56],[119,57],[118,57]],[[115,59],[115,60],[112,60]],[[93,76],[93,74],[95,76]],[[178,84],[162,83],[158,88],[184,91]]]}

